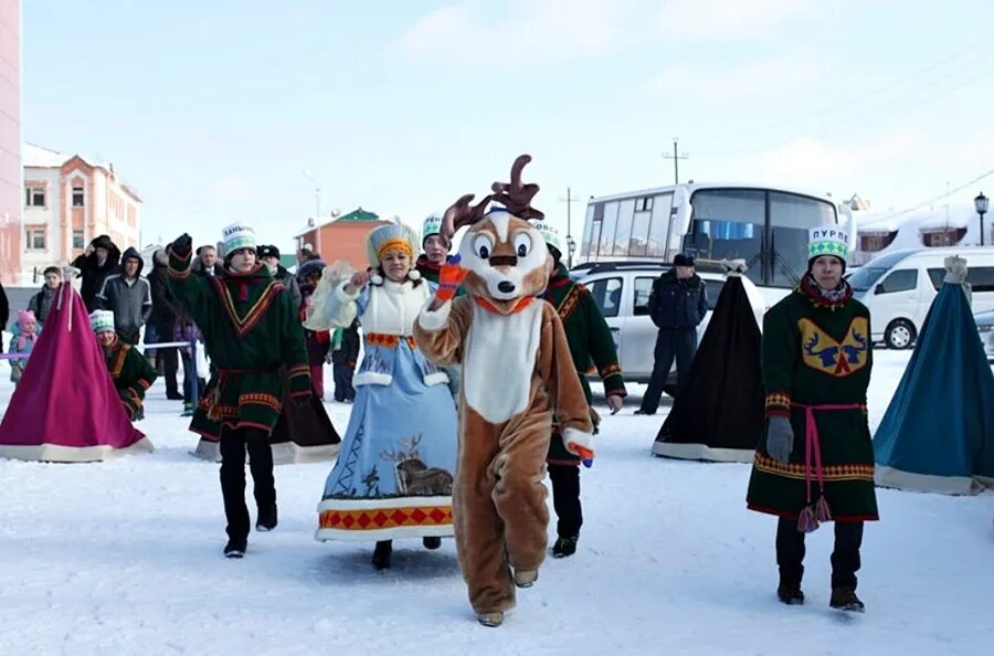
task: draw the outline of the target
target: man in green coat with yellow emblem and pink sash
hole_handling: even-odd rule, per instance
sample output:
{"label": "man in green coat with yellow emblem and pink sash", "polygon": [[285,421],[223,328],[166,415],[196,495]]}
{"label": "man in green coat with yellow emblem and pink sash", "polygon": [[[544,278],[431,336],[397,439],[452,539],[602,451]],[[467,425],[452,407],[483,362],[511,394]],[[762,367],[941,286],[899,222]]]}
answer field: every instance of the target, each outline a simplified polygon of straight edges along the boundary
{"label": "man in green coat with yellow emblem and pink sash", "polygon": [[878,519],[866,419],[873,345],[869,311],[842,279],[847,242],[836,225],[812,229],[807,273],[763,318],[766,428],[747,504],[780,517],[780,601],[804,603],[804,536],[834,520],[829,605],[863,612],[856,596],[863,523]]}

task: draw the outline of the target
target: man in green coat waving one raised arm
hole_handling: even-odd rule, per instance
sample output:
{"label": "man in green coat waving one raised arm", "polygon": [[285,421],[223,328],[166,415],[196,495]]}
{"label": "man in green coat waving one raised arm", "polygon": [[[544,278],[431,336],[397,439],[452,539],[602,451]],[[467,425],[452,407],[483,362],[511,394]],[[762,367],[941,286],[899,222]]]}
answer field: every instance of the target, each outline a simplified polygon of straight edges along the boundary
{"label": "man in green coat waving one raised arm", "polygon": [[203,334],[214,371],[190,430],[220,441],[221,493],[228,518],[224,554],[242,558],[248,540],[245,451],[258,508],[255,529],[276,527],[276,488],[269,433],[279,417],[282,369],[294,403],[307,404],[310,368],[304,328],[289,292],[256,258],[255,233],[235,223],[224,229],[224,273],[192,275],[192,242],[183,234],[169,246],[169,287]]}

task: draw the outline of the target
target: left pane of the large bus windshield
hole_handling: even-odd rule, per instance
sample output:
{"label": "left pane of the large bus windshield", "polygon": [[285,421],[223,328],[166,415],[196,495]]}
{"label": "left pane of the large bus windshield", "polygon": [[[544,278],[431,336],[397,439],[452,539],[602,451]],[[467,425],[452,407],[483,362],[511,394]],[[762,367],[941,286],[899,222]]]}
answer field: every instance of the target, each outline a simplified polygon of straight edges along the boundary
{"label": "left pane of the large bus windshield", "polygon": [[694,214],[684,250],[702,260],[745,261],[745,275],[762,285],[761,255],[766,223],[765,192],[751,189],[702,189],[690,199]]}

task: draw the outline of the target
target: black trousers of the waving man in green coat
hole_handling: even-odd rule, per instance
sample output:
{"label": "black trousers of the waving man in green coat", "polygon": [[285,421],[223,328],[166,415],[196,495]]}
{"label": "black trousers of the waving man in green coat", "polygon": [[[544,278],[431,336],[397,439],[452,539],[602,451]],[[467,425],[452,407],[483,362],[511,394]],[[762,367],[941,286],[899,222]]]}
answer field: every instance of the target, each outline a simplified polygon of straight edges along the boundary
{"label": "black trousers of the waving man in green coat", "polygon": [[221,496],[228,518],[228,537],[248,538],[248,508],[245,506],[245,451],[252,470],[255,504],[265,508],[276,502],[273,478],[273,448],[269,436],[262,428],[221,428]]}

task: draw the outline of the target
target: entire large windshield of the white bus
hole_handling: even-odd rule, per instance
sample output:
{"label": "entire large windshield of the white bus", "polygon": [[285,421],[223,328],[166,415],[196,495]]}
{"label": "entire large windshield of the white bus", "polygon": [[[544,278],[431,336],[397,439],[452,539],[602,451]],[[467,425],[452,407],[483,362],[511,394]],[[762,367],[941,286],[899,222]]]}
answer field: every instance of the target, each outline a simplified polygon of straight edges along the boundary
{"label": "entire large windshield of the white bus", "polygon": [[807,268],[808,230],[836,223],[823,200],[765,189],[701,189],[684,250],[705,260],[744,260],[763,287],[793,287]]}

